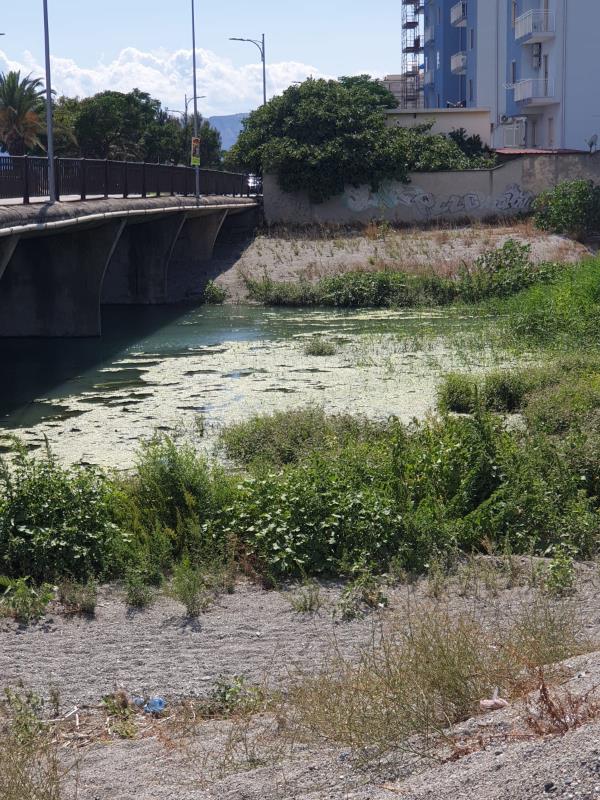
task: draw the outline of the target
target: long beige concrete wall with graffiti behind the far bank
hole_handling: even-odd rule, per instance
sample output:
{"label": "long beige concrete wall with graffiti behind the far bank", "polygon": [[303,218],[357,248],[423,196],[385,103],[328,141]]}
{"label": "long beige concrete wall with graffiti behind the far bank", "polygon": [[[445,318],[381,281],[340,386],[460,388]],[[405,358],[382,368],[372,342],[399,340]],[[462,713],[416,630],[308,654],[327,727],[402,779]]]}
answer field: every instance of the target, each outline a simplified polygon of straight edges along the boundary
{"label": "long beige concrete wall with graffiti behind the far bank", "polygon": [[264,213],[268,224],[480,220],[527,212],[541,191],[573,178],[600,182],[600,153],[523,156],[490,170],[414,172],[410,183],[390,181],[376,192],[349,186],[321,204],[310,203],[306,193],[283,192],[267,175]]}

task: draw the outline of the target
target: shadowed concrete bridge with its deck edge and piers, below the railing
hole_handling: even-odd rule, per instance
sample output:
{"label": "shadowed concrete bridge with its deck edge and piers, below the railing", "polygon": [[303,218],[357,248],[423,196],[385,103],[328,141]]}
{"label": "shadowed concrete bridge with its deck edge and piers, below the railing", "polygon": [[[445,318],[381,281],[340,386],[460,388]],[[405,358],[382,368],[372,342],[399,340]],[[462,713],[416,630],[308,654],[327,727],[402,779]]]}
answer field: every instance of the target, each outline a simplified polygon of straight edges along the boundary
{"label": "shadowed concrete bridge with its deck edge and piers, below the railing", "polygon": [[257,222],[232,196],[0,206],[0,337],[99,336],[102,304],[197,300],[217,237]]}

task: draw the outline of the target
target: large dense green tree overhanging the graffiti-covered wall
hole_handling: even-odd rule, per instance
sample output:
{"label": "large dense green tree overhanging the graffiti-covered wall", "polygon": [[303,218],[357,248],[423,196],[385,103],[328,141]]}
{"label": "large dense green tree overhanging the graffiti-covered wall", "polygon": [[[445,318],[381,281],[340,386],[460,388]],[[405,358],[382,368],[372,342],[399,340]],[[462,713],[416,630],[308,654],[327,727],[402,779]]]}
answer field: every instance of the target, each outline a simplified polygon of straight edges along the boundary
{"label": "large dense green tree overhanging the graffiti-covered wall", "polygon": [[368,75],[307,80],[250,114],[226,165],[274,173],[285,191],[305,190],[321,202],[347,184],[376,189],[383,180],[406,180],[409,170],[481,163],[429,126],[388,127],[385,111],[396,105]]}

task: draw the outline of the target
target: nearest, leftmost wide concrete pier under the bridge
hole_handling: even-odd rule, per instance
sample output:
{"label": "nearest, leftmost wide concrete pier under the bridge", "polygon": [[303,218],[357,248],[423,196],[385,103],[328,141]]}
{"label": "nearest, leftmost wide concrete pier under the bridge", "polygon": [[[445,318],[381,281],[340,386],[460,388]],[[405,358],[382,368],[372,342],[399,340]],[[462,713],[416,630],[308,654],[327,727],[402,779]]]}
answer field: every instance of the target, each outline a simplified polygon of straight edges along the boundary
{"label": "nearest, leftmost wide concrete pier under the bridge", "polygon": [[10,254],[3,244],[0,336],[99,336],[102,281],[124,225],[23,238]]}

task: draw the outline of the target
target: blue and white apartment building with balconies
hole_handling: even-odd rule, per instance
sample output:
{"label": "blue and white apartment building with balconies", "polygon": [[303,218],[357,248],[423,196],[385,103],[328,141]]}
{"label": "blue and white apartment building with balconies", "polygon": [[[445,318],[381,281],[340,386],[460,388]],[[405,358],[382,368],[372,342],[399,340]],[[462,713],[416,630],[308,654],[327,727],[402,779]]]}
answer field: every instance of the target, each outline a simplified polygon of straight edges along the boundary
{"label": "blue and white apartment building with balconies", "polygon": [[424,0],[422,15],[426,108],[489,109],[495,147],[593,146],[600,0]]}

